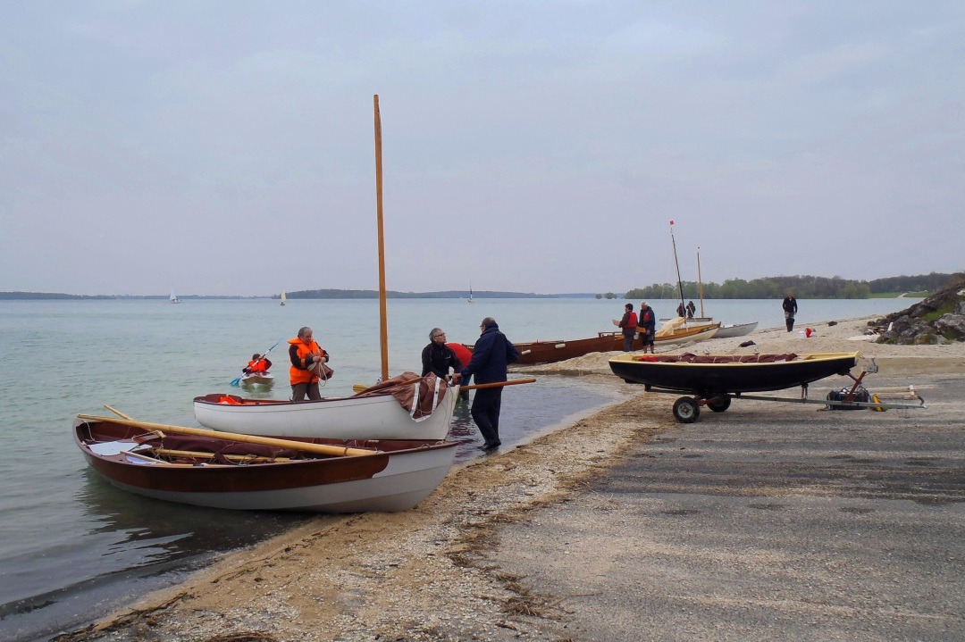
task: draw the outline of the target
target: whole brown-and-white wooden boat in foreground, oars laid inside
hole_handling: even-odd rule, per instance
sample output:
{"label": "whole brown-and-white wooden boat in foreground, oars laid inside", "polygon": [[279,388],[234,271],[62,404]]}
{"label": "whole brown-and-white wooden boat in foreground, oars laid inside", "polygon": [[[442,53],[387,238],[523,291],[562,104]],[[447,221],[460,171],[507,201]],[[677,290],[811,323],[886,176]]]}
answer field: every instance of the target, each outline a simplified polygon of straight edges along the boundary
{"label": "whole brown-and-white wooden boat in foreground, oars laid inside", "polygon": [[[142,427],[149,424],[107,419],[73,425],[91,468],[125,491],[209,508],[403,511],[431,494],[455,459],[455,441],[290,438],[263,445],[172,434],[173,426],[158,436]],[[313,446],[321,452],[303,450]],[[324,454],[339,451],[348,454]]]}

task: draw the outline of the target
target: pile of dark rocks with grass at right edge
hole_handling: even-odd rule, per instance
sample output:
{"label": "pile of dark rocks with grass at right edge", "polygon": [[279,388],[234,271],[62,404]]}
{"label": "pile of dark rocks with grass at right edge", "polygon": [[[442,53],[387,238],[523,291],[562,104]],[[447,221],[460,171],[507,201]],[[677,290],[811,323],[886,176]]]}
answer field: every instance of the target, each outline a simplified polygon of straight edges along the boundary
{"label": "pile of dark rocks with grass at right edge", "polygon": [[927,345],[965,341],[965,277],[932,296],[868,324],[879,330],[878,343]]}

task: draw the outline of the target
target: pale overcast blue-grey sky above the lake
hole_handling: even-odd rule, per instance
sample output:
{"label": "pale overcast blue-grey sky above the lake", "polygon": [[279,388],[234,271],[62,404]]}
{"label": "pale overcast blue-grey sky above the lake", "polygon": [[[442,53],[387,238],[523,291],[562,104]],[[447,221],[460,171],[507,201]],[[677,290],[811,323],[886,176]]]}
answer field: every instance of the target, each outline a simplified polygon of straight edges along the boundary
{"label": "pale overcast blue-grey sky above the lake", "polygon": [[0,0],[0,291],[965,269],[965,3]]}

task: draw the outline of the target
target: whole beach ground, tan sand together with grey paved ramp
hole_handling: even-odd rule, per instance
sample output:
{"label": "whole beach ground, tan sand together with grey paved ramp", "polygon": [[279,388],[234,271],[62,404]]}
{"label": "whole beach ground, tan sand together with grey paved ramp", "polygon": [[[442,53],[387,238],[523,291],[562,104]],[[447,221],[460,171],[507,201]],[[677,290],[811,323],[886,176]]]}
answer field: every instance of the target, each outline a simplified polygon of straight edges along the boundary
{"label": "whole beach ground, tan sand together with grey paved ramp", "polygon": [[[669,412],[673,397],[646,393],[610,373],[607,360],[620,353],[518,368],[517,373],[537,377],[562,374],[606,381],[623,397],[533,441],[454,468],[414,510],[318,518],[59,639],[562,642],[885,640],[905,634],[912,639],[961,639],[965,626],[956,601],[902,593],[887,569],[891,565],[920,574],[911,579],[916,584],[928,583],[928,577],[951,582],[949,595],[962,595],[965,551],[960,537],[951,533],[958,529],[960,534],[965,523],[965,424],[960,416],[965,343],[892,346],[853,340],[865,332],[868,321],[813,325],[810,338],[798,334],[803,327],[794,333],[763,329],[671,352],[858,351],[863,358],[859,367],[872,359],[879,367],[869,378],[869,388],[877,380],[915,384],[926,390],[928,410],[815,413],[813,406],[788,410],[747,401],[727,414],[685,426]],[[747,340],[755,344],[740,348]],[[813,395],[849,381],[818,382]],[[898,442],[905,436],[907,441]],[[923,436],[934,443],[928,445]],[[886,442],[890,450],[882,445]],[[747,450],[751,444],[753,455]],[[917,450],[929,447],[935,449],[924,454]],[[684,448],[697,454],[688,458],[680,454]],[[761,455],[759,448],[772,454]],[[821,448],[830,450],[819,467],[811,468]],[[740,465],[731,460],[738,450],[744,453]],[[865,457],[878,464],[855,454],[878,450]],[[881,464],[892,461],[884,450],[897,453],[894,466]],[[751,466],[758,460],[767,460],[766,479],[760,476],[762,468]],[[707,475],[715,462],[734,471],[728,474],[744,475],[743,481],[721,482],[719,477],[711,483]],[[680,477],[690,466],[695,467],[693,474]],[[788,481],[788,471],[798,467],[802,478],[811,480],[807,484]],[[872,468],[873,475],[888,479],[900,471],[910,490],[903,495],[880,490],[892,488],[890,482],[869,482],[854,491],[844,488],[848,485],[842,479],[857,484],[854,480],[867,479]],[[915,475],[934,478],[916,485]],[[698,484],[698,479],[703,481]],[[939,487],[944,490],[937,491]],[[730,503],[721,503],[725,498]],[[758,522],[721,522],[737,509]],[[912,512],[898,516],[893,511]],[[817,513],[834,519],[810,522],[808,517]],[[782,517],[791,514],[798,517],[790,522]],[[935,521],[930,537],[938,538],[932,548],[935,555],[945,556],[941,564],[937,558],[906,559],[905,547],[914,548],[913,541],[923,537],[910,533],[907,542],[897,535],[887,542],[885,548],[894,556],[867,562],[869,574],[854,579],[857,588],[838,584],[837,575],[808,579],[818,566],[838,564],[843,573],[848,564],[863,564],[862,555],[870,557],[868,548],[849,550],[846,533],[862,533],[867,527],[869,537],[885,538],[883,533],[895,530],[888,526],[891,518],[886,519],[893,515],[894,523],[905,523],[909,515],[915,522]],[[869,516],[882,522],[858,523]],[[680,530],[680,520],[689,517],[706,520],[705,527]],[[843,540],[824,541],[833,530],[828,523],[838,523],[835,520],[849,521],[841,530]],[[745,548],[752,536],[763,537],[756,529],[768,533],[774,547],[767,564]],[[679,539],[661,537],[671,532]],[[710,542],[712,534],[725,532],[729,537]],[[809,536],[803,537],[805,533]],[[946,533],[953,542],[942,539]],[[704,537],[706,542],[697,541]],[[800,560],[794,551],[808,548],[802,542],[822,544],[811,552],[813,560],[796,568]],[[703,548],[698,549],[699,544]],[[829,548],[840,549],[839,554],[817,552]],[[671,550],[677,556],[675,565],[668,561]],[[781,556],[784,561],[777,563]],[[939,568],[944,570],[936,571]],[[950,570],[954,574],[949,575]],[[786,586],[794,588],[782,592],[780,587]],[[754,594],[756,590],[766,595]],[[875,612],[852,603],[858,592],[877,601],[877,619]],[[767,619],[768,613],[779,612],[787,619]]]}

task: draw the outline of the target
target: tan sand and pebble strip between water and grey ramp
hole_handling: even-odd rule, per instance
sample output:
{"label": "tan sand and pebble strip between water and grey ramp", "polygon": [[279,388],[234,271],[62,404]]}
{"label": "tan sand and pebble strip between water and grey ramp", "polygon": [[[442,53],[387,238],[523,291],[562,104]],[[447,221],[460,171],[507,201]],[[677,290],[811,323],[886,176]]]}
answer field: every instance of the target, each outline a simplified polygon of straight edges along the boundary
{"label": "tan sand and pebble strip between water and grey ramp", "polygon": [[[962,343],[879,346],[849,341],[871,318],[835,326],[812,324],[817,334],[811,338],[799,338],[796,331],[787,336],[783,328],[763,329],[744,337],[711,339],[700,344],[700,350],[859,351],[878,362],[881,371],[874,377],[933,373],[935,367],[958,376],[965,373]],[[748,339],[756,345],[738,347]],[[679,346],[665,354],[687,350]],[[513,368],[587,377],[588,382],[614,386],[624,400],[569,425],[546,429],[549,432],[511,449],[458,465],[415,509],[319,517],[57,639],[187,641],[252,631],[263,635],[252,639],[263,640],[443,640],[461,639],[459,631],[473,631],[481,639],[518,638],[522,630],[532,629],[530,620],[549,615],[559,603],[547,606],[552,600],[543,600],[522,576],[501,568],[499,548],[533,533],[547,536],[538,521],[541,510],[596,497],[593,485],[614,467],[632,461],[641,444],[682,430],[668,412],[665,395],[645,393],[609,373],[606,361],[617,354]],[[933,374],[922,376],[934,379]],[[828,387],[833,388],[831,380]],[[530,529],[535,530],[518,527],[527,521],[534,522]],[[516,532],[516,540],[503,541],[509,530]],[[552,566],[553,561],[541,564]],[[547,630],[556,627],[547,625]]]}

